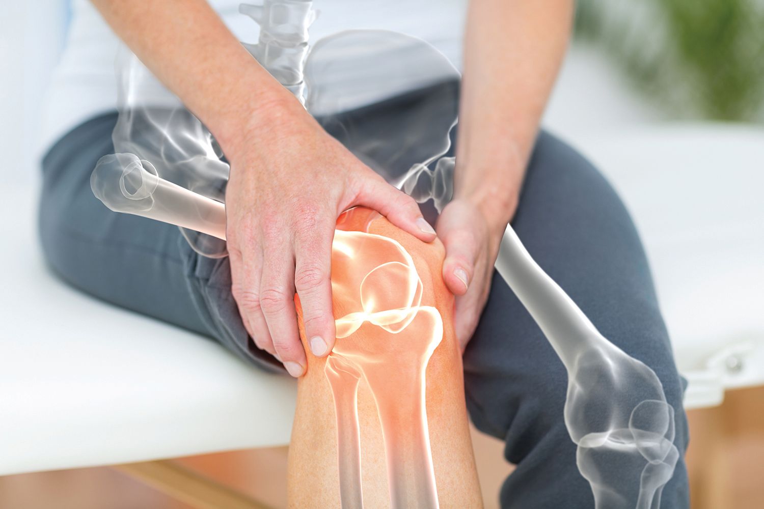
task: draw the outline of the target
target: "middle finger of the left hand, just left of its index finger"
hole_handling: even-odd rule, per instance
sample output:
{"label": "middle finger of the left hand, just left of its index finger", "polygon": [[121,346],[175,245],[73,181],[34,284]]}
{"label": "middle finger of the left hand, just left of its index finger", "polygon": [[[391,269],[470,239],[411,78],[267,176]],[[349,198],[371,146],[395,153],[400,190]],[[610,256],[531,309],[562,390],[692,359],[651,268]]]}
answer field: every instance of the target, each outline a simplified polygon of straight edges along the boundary
{"label": "middle finger of the left hand, just left of its index finger", "polygon": [[285,237],[280,231],[265,236],[267,256],[263,259],[259,301],[277,355],[286,371],[298,378],[305,372],[306,357],[294,308],[294,257]]}

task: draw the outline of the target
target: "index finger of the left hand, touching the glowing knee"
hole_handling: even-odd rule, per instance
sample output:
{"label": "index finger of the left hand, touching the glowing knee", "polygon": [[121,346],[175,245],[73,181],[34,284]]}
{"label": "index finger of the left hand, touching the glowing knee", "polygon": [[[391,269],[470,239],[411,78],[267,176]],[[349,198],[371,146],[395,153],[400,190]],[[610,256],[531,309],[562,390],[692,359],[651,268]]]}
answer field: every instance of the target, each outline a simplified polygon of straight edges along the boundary
{"label": "index finger of the left hand, touching the glowing knee", "polygon": [[295,238],[294,283],[303,308],[303,324],[313,355],[326,356],[335,343],[332,313],[332,237],[334,223],[309,227]]}

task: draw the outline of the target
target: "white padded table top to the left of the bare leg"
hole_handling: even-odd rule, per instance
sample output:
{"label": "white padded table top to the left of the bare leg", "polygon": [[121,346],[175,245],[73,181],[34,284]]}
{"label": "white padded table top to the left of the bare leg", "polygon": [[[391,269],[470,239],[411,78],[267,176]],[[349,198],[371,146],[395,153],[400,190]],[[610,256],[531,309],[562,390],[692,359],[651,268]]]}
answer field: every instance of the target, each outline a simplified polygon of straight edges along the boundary
{"label": "white padded table top to the left of the bare leg", "polygon": [[0,193],[0,475],[289,442],[292,379],[64,285],[33,190]]}

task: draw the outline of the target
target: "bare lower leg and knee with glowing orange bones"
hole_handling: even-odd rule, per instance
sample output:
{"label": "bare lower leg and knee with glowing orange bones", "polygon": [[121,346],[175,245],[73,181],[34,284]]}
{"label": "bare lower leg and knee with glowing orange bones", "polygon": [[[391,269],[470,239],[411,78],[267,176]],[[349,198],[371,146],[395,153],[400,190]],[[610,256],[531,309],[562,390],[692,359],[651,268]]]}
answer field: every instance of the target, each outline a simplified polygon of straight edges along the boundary
{"label": "bare lower leg and knee with glowing orange bones", "polygon": [[299,382],[295,507],[481,507],[442,256],[372,211],[338,221],[338,339]]}

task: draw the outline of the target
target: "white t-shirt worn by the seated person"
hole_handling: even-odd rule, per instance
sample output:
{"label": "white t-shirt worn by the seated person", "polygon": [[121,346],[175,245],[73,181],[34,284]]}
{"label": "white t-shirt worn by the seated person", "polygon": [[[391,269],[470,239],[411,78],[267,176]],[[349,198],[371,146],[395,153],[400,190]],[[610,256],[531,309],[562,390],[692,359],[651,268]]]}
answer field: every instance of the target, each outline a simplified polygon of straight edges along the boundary
{"label": "white t-shirt worn by the seated person", "polygon": [[[237,0],[209,0],[241,41],[256,43],[257,24],[238,12]],[[253,2],[254,3],[254,2]],[[461,68],[466,0],[314,0],[319,17],[311,43],[339,31],[374,28],[428,41]],[[117,108],[115,56],[119,40],[87,0],[73,0],[66,47],[53,71],[44,108],[43,147],[89,118]]]}

